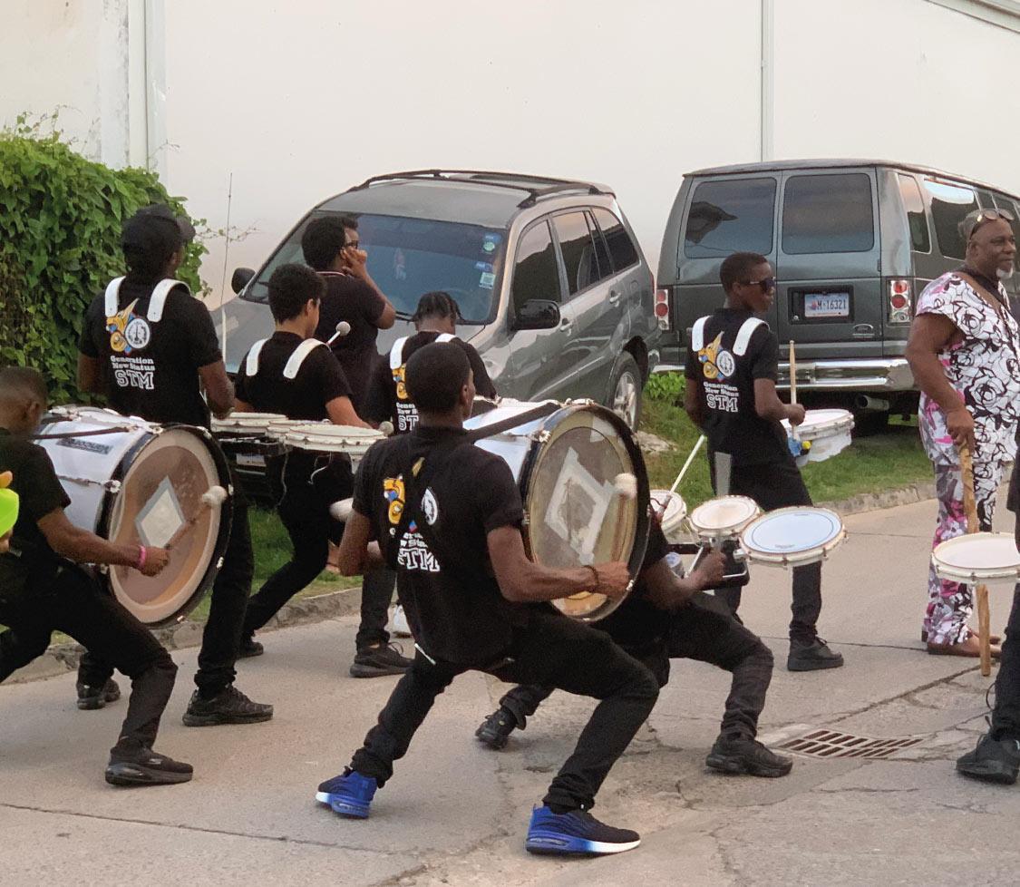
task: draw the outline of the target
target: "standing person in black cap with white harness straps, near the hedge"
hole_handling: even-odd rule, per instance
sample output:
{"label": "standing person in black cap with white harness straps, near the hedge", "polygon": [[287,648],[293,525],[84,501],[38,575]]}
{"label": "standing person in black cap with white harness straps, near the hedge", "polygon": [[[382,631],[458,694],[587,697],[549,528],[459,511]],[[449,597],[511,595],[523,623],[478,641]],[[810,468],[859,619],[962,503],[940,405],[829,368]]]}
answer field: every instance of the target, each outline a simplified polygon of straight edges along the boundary
{"label": "standing person in black cap with white harness straps, near the hedge", "polygon": [[[86,312],[78,377],[83,391],[104,394],[125,415],[208,428],[209,406],[217,415],[234,406],[234,386],[209,311],[173,277],[194,235],[190,223],[162,204],[140,209],[128,220],[121,245],[129,273],[111,281]],[[254,558],[247,502],[237,477],[232,480],[234,521],[212,587],[195,675],[198,690],[184,716],[189,727],[252,724],[272,717],[271,705],[252,702],[234,686]],[[80,708],[101,708],[116,698],[112,672],[108,662],[83,656]]]}

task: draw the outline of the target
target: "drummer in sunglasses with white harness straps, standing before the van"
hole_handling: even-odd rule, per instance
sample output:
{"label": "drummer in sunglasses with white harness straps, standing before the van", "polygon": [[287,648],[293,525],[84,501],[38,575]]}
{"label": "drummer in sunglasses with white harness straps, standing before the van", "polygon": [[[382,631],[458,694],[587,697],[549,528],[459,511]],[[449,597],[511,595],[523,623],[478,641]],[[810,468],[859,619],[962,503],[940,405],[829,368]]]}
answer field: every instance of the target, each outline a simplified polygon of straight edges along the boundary
{"label": "drummer in sunglasses with white harness straps, standing before the van", "polygon": [[[811,495],[794,461],[781,420],[804,422],[804,407],[779,400],[779,341],[758,315],[775,297],[775,278],[765,256],[737,252],[719,269],[726,304],[695,322],[687,349],[684,408],[708,437],[709,471],[715,476],[716,453],[731,459],[729,492],[754,499],[764,510],[810,505]],[[821,562],[794,568],[793,621],[789,624],[792,672],[835,669],[843,655],[818,637],[822,609]],[[740,589],[718,596],[735,613]]]}

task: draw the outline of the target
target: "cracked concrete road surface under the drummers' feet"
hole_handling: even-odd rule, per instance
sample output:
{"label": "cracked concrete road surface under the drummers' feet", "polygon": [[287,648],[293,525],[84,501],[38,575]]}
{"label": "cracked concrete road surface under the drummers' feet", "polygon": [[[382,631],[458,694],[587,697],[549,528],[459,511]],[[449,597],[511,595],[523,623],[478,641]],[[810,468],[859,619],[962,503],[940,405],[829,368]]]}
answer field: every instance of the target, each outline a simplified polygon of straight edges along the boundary
{"label": "cracked concrete road surface under the drummers' feet", "polygon": [[[1015,883],[1020,789],[953,771],[983,730],[989,680],[972,660],[920,651],[934,508],[847,520],[851,537],[824,570],[821,624],[846,668],[782,668],[787,573],[756,568],[742,608],[776,654],[766,738],[812,727],[921,738],[889,758],[798,756],[779,780],[708,773],[727,676],[674,661],[596,811],[636,828],[643,845],[592,861],[531,857],[523,851],[528,810],[592,704],[557,694],[494,753],[472,733],[505,688],[466,675],[437,704],[372,818],[344,821],[314,805],[315,785],[347,762],[396,680],[347,676],[356,625],[344,618],[267,634],[266,655],[241,663],[239,687],[276,707],[264,725],[184,728],[196,651],[175,654],[181,677],[159,748],[195,765],[185,786],[118,791],[102,781],[123,701],[80,712],[69,675],[0,686],[0,883]],[[1000,529],[1011,522],[1000,513]],[[991,594],[996,628],[1010,596],[998,587]]]}

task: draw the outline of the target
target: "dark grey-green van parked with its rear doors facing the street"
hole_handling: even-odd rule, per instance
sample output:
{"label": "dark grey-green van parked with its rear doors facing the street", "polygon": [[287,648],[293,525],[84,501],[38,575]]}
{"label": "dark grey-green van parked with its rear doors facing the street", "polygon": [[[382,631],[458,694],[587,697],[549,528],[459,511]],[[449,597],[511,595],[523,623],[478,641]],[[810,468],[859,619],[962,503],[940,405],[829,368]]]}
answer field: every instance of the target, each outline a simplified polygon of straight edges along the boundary
{"label": "dark grey-green van parked with its rear doors facing the street", "polygon": [[[722,304],[722,259],[759,252],[776,272],[766,319],[782,356],[797,343],[799,395],[880,425],[890,411],[916,405],[907,335],[921,290],[963,260],[958,224],[978,207],[1017,217],[1018,202],[970,179],[885,160],[780,160],[688,173],[659,259],[657,310],[666,314],[668,305],[669,326],[663,361],[682,365],[692,325]],[[1005,284],[1015,299],[1020,274]],[[788,387],[787,363],[779,374],[780,387]]]}

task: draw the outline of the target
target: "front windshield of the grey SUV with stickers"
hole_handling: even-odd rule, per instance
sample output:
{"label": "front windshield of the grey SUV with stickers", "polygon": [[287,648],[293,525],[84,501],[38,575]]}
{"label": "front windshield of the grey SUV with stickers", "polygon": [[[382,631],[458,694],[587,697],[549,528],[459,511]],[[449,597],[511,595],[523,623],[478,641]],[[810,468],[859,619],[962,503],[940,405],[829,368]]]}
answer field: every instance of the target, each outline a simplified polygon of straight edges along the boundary
{"label": "front windshield of the grey SUV with stickers", "polygon": [[[301,236],[315,212],[288,238],[245,291],[244,298],[265,302],[266,283],[282,264],[304,263]],[[344,213],[337,213],[343,215]],[[498,307],[506,232],[460,221],[436,221],[400,215],[351,213],[358,219],[361,249],[368,253],[368,273],[399,314],[414,313],[427,292],[448,292],[460,306],[465,324],[487,324]]]}

